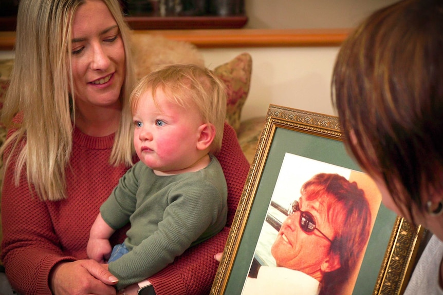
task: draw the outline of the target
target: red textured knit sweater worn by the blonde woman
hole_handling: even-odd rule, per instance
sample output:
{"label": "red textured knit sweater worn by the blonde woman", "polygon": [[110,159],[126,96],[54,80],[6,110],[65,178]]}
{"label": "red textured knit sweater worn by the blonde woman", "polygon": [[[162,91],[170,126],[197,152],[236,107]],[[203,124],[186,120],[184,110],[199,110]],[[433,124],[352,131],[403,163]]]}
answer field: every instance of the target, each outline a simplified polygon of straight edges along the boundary
{"label": "red textured knit sweater worn by the blonde woman", "polygon": [[[97,138],[75,130],[67,169],[68,197],[63,201],[39,201],[29,192],[25,178],[15,187],[13,164],[9,166],[2,192],[2,260],[8,279],[18,292],[51,294],[51,268],[59,261],[87,258],[89,229],[100,205],[127,170],[108,164],[113,141],[114,135]],[[228,184],[227,227],[150,278],[158,295],[205,294],[211,288],[218,266],[213,256],[223,251],[249,171],[235,132],[227,124],[217,159]],[[116,232],[113,243],[123,240],[126,229]]]}

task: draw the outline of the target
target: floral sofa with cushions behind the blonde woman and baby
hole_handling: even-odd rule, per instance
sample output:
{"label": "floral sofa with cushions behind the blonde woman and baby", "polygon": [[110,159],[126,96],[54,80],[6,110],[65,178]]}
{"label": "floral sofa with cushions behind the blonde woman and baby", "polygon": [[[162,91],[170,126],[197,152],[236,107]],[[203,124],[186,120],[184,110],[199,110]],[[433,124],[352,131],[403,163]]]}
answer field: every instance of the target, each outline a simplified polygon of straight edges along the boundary
{"label": "floral sofa with cushions behind the blonde woman and baby", "polygon": [[[164,64],[193,63],[201,66],[205,65],[202,55],[191,43],[168,40],[159,35],[152,36],[149,34],[134,34],[133,43],[137,78]],[[0,109],[3,106],[3,100],[9,86],[9,76],[13,65],[13,59],[0,60]],[[226,120],[234,128],[246,159],[249,163],[252,163],[255,148],[265,122],[264,116],[246,121],[241,120],[242,108],[248,97],[251,83],[252,57],[248,53],[242,53],[213,70],[226,84],[228,96]],[[0,145],[3,144],[5,138],[6,129],[0,124]],[[2,167],[3,162],[0,157],[0,186],[3,178]],[[2,238],[1,226],[0,222],[0,241]]]}

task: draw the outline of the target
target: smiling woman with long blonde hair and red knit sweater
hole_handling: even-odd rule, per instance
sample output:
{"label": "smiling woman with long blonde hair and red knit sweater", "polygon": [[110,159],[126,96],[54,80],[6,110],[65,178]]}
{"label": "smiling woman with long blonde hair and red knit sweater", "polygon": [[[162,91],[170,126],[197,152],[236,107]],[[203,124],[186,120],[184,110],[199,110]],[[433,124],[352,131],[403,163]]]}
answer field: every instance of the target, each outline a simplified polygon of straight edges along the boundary
{"label": "smiling woman with long blonde hair and red knit sweater", "polygon": [[[128,33],[117,0],[20,1],[2,117],[10,131],[1,255],[19,293],[116,293],[116,278],[87,259],[86,245],[100,205],[138,160],[128,110],[134,85]],[[231,174],[244,181],[248,164],[227,125],[224,144],[218,159],[229,194]],[[121,243],[126,229],[111,243]],[[223,250],[228,232],[149,278],[156,293],[207,291],[217,267],[208,253]]]}

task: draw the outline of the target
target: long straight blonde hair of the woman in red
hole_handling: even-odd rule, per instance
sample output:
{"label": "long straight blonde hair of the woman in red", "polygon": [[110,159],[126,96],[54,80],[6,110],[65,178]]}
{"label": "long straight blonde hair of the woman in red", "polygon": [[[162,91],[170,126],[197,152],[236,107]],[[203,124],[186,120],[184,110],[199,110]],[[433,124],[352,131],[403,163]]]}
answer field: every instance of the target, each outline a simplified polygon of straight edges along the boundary
{"label": "long straight blonde hair of the woman in red", "polygon": [[[128,97],[134,85],[134,74],[130,29],[118,1],[102,1],[120,29],[126,63],[120,97],[122,117],[109,162],[131,165],[132,116]],[[18,185],[26,167],[29,186],[34,186],[41,200],[66,198],[65,171],[72,151],[76,109],[70,68],[71,28],[77,8],[84,3],[85,0],[22,0],[19,5],[15,64],[2,113],[2,122],[13,132],[1,152],[8,150],[4,171],[11,156],[17,154],[15,183]],[[22,120],[14,120],[17,113]]]}

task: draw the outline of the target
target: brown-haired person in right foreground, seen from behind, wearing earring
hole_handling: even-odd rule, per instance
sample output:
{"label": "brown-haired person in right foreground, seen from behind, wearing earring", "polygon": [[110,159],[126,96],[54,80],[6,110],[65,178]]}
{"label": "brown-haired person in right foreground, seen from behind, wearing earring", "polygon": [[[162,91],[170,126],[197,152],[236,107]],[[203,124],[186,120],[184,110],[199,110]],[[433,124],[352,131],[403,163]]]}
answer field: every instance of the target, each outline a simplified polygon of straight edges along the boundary
{"label": "brown-haired person in right foreground, seen from behind, wearing earring", "polygon": [[383,204],[434,235],[407,294],[443,294],[443,2],[376,11],[342,45],[333,101]]}

